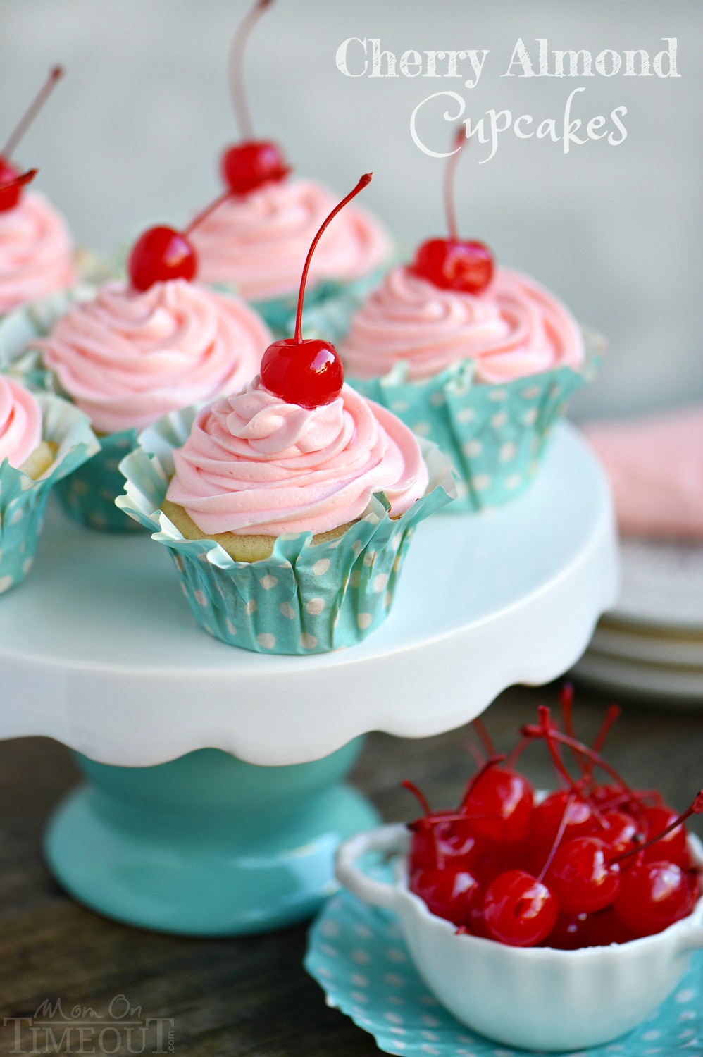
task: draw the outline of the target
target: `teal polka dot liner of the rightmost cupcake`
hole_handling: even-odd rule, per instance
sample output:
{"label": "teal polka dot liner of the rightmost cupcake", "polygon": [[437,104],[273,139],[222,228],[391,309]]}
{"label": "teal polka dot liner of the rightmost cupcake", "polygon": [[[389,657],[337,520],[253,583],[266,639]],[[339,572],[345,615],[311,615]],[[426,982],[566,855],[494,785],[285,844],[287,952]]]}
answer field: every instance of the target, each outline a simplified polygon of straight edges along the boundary
{"label": "teal polka dot liner of the rightmost cupcake", "polygon": [[473,513],[508,502],[534,481],[555,423],[600,361],[603,339],[585,339],[580,370],[559,367],[504,385],[475,383],[470,359],[422,382],[409,382],[404,364],[383,377],[349,381],[444,451],[459,477],[448,509]]}

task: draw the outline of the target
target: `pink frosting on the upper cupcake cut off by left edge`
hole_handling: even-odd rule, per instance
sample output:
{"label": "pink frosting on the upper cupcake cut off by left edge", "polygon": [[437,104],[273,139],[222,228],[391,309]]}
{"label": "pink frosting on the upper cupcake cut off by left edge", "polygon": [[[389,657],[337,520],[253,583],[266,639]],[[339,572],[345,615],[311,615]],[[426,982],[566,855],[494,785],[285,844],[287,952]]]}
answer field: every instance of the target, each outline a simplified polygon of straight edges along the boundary
{"label": "pink frosting on the upper cupcake cut off by left edge", "polygon": [[0,312],[71,286],[72,252],[63,219],[42,194],[25,191],[0,212]]}

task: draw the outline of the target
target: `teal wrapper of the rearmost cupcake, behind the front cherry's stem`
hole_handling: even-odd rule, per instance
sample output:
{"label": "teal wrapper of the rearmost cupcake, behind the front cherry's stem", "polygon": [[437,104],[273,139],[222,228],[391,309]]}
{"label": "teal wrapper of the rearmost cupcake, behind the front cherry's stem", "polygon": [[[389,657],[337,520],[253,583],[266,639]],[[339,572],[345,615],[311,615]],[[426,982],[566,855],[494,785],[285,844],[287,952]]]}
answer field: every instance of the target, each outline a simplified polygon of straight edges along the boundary
{"label": "teal wrapper of the rearmost cupcake, behind the front cherry's stem", "polygon": [[[321,337],[328,341],[339,341],[349,331],[349,321],[362,302],[378,285],[388,271],[389,264],[374,268],[359,279],[350,282],[327,280],[312,288],[306,294],[302,313],[304,337]],[[266,321],[276,337],[292,337],[295,330],[295,314],[298,292],[286,297],[254,301],[253,308]]]}

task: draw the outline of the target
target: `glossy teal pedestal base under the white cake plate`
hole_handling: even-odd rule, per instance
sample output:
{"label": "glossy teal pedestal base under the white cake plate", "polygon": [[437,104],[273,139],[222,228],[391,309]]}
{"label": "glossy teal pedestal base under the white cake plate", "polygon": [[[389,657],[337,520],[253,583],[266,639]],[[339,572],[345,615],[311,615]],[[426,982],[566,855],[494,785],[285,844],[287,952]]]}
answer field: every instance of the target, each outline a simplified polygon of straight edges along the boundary
{"label": "glossy teal pedestal base under the white cake plate", "polygon": [[337,845],[377,824],[343,779],[360,739],[314,763],[259,767],[200,749],[152,767],[85,757],[45,840],[59,884],[141,928],[237,935],[310,917],[336,890]]}

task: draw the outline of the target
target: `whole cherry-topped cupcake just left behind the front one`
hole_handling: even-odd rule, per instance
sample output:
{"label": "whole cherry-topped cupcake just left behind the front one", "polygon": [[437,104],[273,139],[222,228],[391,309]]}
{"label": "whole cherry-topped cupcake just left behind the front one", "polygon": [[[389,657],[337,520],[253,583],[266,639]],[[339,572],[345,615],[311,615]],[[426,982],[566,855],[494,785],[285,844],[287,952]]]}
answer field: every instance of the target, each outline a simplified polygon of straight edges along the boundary
{"label": "whole cherry-topped cupcake just left behind the front one", "polygon": [[58,390],[100,439],[99,456],[58,493],[92,527],[134,527],[114,499],[123,489],[119,460],[140,430],[238,389],[259,369],[271,338],[265,323],[241,299],[191,281],[196,271],[186,235],[150,228],[134,245],[129,281],[104,284],[36,342]]}

